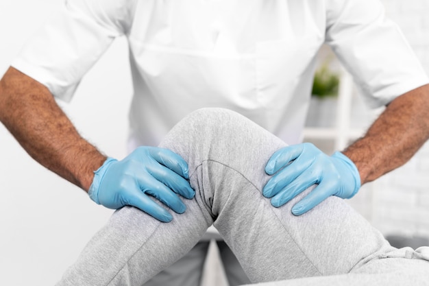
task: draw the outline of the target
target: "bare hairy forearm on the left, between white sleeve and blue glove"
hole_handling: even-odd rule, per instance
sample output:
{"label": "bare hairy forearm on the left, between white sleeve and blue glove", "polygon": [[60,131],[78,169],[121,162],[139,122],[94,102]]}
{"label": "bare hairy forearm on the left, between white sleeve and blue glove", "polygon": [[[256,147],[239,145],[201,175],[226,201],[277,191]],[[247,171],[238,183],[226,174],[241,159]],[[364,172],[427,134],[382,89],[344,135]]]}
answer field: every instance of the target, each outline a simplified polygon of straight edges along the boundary
{"label": "bare hairy forearm on the left, between white sleeve and blue glove", "polygon": [[85,191],[106,160],[77,133],[48,89],[13,67],[0,81],[0,121],[38,163]]}

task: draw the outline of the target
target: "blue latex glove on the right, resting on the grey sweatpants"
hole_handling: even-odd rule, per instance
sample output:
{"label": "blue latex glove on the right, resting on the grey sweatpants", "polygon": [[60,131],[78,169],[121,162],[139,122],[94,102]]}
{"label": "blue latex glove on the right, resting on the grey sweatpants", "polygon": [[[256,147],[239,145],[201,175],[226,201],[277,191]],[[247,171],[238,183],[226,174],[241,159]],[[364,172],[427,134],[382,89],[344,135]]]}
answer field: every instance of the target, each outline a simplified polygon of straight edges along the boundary
{"label": "blue latex glove on the right, resting on the grey sweatpants", "polygon": [[292,208],[293,215],[302,215],[330,195],[352,198],[360,188],[356,165],[336,152],[328,156],[311,143],[284,147],[275,152],[265,166],[273,177],[265,184],[262,194],[271,198],[275,207],[286,204],[312,184],[318,184]]}

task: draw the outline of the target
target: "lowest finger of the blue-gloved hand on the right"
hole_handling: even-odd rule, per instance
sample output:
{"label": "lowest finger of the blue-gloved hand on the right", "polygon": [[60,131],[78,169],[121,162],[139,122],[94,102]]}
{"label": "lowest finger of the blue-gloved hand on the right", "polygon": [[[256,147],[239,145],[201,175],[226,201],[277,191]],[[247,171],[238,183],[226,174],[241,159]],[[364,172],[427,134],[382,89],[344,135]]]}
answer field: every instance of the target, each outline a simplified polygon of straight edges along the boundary
{"label": "lowest finger of the blue-gloved hand on the right", "polygon": [[293,215],[302,215],[332,195],[332,184],[319,184],[292,208]]}

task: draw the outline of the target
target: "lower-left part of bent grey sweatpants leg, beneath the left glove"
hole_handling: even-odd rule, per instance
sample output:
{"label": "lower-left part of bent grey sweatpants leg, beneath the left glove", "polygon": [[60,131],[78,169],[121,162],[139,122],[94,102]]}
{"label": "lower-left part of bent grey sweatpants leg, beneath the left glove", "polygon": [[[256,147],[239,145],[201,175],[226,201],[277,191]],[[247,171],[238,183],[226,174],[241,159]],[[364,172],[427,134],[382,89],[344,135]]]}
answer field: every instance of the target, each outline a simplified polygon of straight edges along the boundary
{"label": "lower-left part of bent grey sweatpants leg, beneath the left glove", "polygon": [[183,257],[212,221],[196,200],[186,200],[186,213],[159,222],[138,208],[125,206],[88,242],[58,286],[143,285]]}

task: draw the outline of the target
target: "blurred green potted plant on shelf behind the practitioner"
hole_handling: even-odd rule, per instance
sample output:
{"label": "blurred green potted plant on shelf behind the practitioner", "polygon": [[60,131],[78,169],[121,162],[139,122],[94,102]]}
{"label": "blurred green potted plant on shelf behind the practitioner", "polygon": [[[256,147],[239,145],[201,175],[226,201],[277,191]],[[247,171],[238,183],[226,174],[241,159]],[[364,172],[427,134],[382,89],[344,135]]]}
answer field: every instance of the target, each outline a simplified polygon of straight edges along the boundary
{"label": "blurred green potted plant on shelf behind the practitioner", "polygon": [[330,70],[326,62],[316,71],[312,84],[312,96],[325,98],[338,95],[340,78],[337,73]]}

